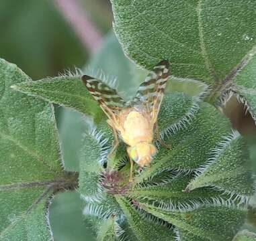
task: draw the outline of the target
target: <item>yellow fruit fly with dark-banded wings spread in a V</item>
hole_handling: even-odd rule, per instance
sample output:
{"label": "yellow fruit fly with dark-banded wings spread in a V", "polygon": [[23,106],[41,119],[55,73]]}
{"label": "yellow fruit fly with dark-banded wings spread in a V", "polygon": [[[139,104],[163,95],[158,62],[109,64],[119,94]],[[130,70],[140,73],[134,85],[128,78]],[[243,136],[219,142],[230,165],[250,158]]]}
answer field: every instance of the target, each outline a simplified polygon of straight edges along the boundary
{"label": "yellow fruit fly with dark-banded wings spread in a V", "polygon": [[133,161],[144,167],[151,163],[157,152],[153,138],[156,134],[159,141],[161,140],[157,116],[168,78],[169,62],[162,60],[140,84],[135,97],[125,101],[107,84],[87,75],[82,76],[87,90],[108,116],[107,123],[114,133],[114,146],[110,154],[118,147],[118,137],[121,137],[127,145],[131,164],[129,181],[132,181]]}

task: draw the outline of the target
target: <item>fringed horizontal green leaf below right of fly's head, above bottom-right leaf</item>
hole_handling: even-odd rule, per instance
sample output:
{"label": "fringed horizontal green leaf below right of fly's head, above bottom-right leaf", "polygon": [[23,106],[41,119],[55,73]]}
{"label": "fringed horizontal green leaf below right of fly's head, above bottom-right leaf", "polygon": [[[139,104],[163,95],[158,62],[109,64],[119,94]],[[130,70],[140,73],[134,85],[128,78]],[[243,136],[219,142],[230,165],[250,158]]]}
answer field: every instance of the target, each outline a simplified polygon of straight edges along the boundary
{"label": "fringed horizontal green leaf below right of fly's head, above bottom-right leaf", "polygon": [[[169,175],[168,173],[161,174],[163,175],[162,179],[156,180],[154,177],[147,185],[135,186],[128,191],[128,196],[141,203],[154,202],[155,206],[177,209],[220,197],[219,191],[210,188],[196,189],[193,193],[183,191],[189,183],[191,175],[179,174],[172,177],[172,171],[169,171]],[[225,197],[222,196],[222,198]]]}

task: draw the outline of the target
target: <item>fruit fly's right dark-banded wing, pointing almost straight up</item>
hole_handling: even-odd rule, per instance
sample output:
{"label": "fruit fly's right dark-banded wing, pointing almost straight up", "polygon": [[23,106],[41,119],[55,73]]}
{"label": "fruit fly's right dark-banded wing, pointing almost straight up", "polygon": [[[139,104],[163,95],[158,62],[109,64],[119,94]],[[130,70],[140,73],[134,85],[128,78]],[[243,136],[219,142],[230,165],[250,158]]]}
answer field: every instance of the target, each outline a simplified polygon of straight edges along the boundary
{"label": "fruit fly's right dark-banded wing, pointing almost straight up", "polygon": [[151,113],[153,123],[157,121],[157,115],[159,114],[168,78],[169,62],[168,60],[162,60],[146,76],[146,79],[140,84],[134,97],[133,103],[144,106]]}

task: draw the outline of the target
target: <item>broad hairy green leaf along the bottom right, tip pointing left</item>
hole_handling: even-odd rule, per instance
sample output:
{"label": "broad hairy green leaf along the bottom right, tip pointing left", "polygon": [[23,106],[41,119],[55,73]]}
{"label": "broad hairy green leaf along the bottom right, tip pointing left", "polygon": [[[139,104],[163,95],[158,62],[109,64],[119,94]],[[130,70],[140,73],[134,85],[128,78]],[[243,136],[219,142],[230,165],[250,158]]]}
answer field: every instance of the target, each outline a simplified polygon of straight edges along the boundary
{"label": "broad hairy green leaf along the bottom right, tip pointing left", "polygon": [[198,236],[202,240],[232,240],[235,230],[243,224],[245,210],[232,206],[196,206],[191,210],[163,210],[154,206],[140,205],[140,208],[169,222],[186,232],[186,236]]}

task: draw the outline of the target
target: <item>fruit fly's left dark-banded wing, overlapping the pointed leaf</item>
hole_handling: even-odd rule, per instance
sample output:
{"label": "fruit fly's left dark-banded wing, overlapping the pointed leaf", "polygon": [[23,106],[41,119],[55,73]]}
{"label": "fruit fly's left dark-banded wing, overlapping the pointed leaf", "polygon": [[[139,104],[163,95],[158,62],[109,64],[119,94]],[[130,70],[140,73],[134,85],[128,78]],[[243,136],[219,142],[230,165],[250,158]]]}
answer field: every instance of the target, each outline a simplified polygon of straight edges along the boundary
{"label": "fruit fly's left dark-banded wing, overlapping the pointed leaf", "polygon": [[82,80],[93,98],[99,102],[108,118],[113,119],[124,108],[125,101],[118,95],[116,90],[91,76],[84,75]]}

